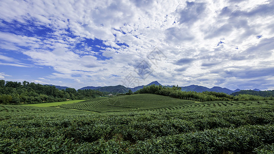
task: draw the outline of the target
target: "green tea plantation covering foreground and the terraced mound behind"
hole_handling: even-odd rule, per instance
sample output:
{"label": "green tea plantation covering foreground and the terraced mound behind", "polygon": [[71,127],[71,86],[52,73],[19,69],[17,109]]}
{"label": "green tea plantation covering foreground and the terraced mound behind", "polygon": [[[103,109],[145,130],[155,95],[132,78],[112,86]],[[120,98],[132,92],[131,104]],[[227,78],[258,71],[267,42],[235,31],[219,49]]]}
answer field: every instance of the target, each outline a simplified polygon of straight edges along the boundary
{"label": "green tea plantation covering foreground and the terraced mound behind", "polygon": [[0,105],[0,153],[273,150],[274,101],[194,102],[136,94],[60,107]]}

